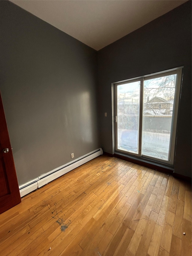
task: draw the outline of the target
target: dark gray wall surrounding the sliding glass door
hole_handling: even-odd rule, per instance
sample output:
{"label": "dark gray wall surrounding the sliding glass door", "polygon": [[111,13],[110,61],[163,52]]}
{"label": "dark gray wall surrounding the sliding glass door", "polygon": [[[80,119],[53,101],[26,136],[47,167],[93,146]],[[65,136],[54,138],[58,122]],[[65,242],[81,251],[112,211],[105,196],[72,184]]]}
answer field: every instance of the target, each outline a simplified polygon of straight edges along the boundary
{"label": "dark gray wall surrounding the sliding glass door", "polygon": [[104,151],[113,153],[111,83],[182,65],[175,172],[191,176],[191,1],[98,52],[99,116]]}

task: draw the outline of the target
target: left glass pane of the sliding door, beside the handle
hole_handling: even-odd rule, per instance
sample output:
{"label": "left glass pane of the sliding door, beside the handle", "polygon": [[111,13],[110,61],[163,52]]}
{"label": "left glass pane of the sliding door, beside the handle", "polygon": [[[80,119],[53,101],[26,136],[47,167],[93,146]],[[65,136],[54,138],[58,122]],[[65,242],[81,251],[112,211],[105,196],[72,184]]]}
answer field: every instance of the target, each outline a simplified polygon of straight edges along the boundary
{"label": "left glass pane of the sliding door, beside the handle", "polygon": [[137,153],[140,81],[117,86],[118,149]]}

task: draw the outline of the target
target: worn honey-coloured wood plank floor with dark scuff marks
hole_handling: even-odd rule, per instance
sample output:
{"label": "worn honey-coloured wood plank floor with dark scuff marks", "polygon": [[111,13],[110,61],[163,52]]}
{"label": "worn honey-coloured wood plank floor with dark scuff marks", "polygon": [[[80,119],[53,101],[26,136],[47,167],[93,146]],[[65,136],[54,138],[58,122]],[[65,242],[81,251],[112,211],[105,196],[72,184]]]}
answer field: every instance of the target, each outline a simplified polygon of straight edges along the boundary
{"label": "worn honey-coloured wood plank floor with dark scuff marks", "polygon": [[99,156],[2,213],[0,255],[191,256],[191,185]]}

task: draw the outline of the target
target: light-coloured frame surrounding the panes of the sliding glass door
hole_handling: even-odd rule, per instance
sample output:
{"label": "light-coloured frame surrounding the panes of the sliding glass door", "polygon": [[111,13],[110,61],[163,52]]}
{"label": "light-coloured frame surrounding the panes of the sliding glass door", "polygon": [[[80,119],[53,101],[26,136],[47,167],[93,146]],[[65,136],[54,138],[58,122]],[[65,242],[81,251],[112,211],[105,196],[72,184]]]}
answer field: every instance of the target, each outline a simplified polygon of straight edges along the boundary
{"label": "light-coloured frame surrounding the panes of the sliding glass door", "polygon": [[[162,163],[166,164],[169,166],[174,165],[174,156],[175,156],[175,143],[176,143],[176,126],[177,126],[177,116],[178,116],[178,108],[179,108],[179,100],[180,100],[180,94],[181,94],[181,83],[182,83],[182,72],[183,72],[183,67],[179,68],[174,68],[170,69],[167,71],[162,71],[158,72],[155,74],[150,74],[142,77],[136,77],[128,80],[124,80],[122,82],[116,82],[112,83],[112,87],[115,89],[115,151],[136,157],[138,159],[143,159],[143,160],[151,160],[152,162],[156,163]],[[168,160],[163,160],[159,158],[154,158],[150,157],[147,155],[142,154],[142,124],[143,124],[143,96],[144,96],[144,81],[145,80],[150,80],[158,77],[163,77],[163,76],[169,76],[172,74],[177,74],[177,79],[176,79],[176,85],[175,85],[175,94],[174,94],[174,103],[173,103],[173,114],[172,114],[172,122],[171,122],[171,132],[170,132],[170,145],[169,145],[169,158]],[[119,85],[124,85],[128,83],[133,83],[140,81],[140,112],[139,112],[139,132],[138,132],[138,139],[139,139],[139,152],[133,153],[133,152],[126,152],[124,150],[118,149],[118,115],[117,115],[117,105],[118,105],[118,100],[117,100],[117,86]]]}

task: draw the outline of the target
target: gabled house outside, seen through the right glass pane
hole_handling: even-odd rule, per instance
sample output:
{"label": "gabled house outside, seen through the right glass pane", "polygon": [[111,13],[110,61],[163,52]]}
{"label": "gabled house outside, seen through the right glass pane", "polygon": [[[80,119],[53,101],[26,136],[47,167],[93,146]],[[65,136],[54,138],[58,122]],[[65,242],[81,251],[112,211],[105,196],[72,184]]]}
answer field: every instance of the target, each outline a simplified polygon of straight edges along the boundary
{"label": "gabled house outside, seen through the right glass pane", "polygon": [[146,115],[170,115],[170,108],[171,103],[169,101],[155,96],[144,103],[143,113]]}

